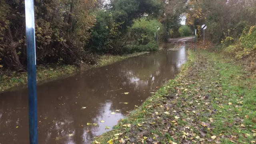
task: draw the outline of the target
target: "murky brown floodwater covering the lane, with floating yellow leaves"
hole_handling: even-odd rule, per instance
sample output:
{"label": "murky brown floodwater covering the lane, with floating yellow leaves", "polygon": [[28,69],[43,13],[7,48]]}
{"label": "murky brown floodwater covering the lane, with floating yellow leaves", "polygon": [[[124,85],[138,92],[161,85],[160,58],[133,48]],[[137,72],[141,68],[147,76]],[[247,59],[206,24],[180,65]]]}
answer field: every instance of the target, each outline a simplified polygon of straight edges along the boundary
{"label": "murky brown floodwater covering the lane, with floating yellow leaves", "polygon": [[[105,126],[116,125],[150,92],[174,78],[186,60],[182,46],[180,50],[160,50],[39,85],[38,143],[92,142],[94,136],[111,130]],[[27,89],[0,93],[0,144],[28,143]]]}

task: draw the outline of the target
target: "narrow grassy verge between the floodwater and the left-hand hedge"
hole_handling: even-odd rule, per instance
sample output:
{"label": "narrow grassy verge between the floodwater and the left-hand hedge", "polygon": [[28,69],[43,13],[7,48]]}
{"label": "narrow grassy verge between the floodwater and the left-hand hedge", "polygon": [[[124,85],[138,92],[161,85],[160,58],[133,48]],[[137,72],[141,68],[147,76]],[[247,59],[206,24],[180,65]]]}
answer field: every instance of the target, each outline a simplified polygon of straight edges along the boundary
{"label": "narrow grassy verge between the floodwater and the left-hand hedge", "polygon": [[[133,56],[138,56],[141,54],[145,54],[146,52],[138,52],[134,54],[126,54],[122,56],[113,56],[113,55],[102,55],[100,56],[98,63],[95,65],[81,65],[80,67],[74,65],[63,65],[63,66],[37,66],[37,77],[36,80],[38,82],[54,80],[59,77],[70,76],[75,72],[80,70],[88,70],[90,68],[96,68],[100,66],[104,66],[107,64],[112,64],[114,62],[118,62],[120,60],[124,60],[126,58],[130,58]],[[1,71],[0,70],[0,91],[7,90],[9,88],[19,86],[22,84],[27,84],[27,72],[15,72],[10,70]]]}

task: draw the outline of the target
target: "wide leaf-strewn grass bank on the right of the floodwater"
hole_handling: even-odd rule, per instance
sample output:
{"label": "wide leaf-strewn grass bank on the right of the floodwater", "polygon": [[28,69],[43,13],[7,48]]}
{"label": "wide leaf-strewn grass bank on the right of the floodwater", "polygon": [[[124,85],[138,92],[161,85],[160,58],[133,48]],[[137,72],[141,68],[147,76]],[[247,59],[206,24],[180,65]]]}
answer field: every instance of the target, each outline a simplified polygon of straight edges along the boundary
{"label": "wide leaf-strewn grass bank on the right of the floodwater", "polygon": [[93,143],[255,143],[256,80],[242,63],[197,50],[182,72]]}

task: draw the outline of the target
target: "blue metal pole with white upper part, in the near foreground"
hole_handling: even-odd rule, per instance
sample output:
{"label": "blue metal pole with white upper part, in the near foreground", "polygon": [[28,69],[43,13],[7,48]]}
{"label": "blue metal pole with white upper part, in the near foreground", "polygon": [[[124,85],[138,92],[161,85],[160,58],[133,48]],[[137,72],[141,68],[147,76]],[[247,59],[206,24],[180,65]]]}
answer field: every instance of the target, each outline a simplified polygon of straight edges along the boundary
{"label": "blue metal pole with white upper part, in the near foreground", "polygon": [[26,44],[28,57],[28,109],[29,109],[29,141],[38,143],[37,136],[37,96],[36,96],[36,42],[34,0],[25,0]]}

